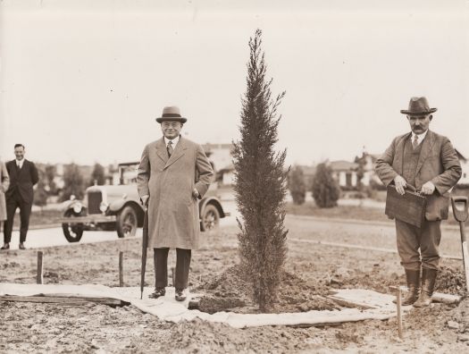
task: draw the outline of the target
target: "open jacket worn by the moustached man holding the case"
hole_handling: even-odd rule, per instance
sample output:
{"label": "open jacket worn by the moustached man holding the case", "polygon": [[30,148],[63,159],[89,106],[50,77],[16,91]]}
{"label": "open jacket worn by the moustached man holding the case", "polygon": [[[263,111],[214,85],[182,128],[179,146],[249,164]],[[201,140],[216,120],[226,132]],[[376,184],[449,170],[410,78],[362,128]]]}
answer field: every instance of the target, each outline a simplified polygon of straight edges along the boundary
{"label": "open jacket worn by the moustached man holding the case", "polygon": [[[392,140],[384,154],[376,160],[375,171],[384,185],[394,181],[403,173],[404,146],[412,133],[400,135]],[[428,131],[422,142],[415,171],[415,188],[421,189],[427,181],[432,181],[435,191],[427,197],[425,218],[430,221],[448,219],[449,193],[461,178],[461,164],[456,151],[448,138]]]}

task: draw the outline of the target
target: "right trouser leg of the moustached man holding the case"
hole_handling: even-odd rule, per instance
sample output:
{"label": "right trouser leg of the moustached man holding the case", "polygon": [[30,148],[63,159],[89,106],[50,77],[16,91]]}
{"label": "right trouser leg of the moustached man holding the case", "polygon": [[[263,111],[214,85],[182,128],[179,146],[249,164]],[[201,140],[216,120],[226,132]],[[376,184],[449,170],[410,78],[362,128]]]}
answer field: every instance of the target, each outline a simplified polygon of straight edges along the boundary
{"label": "right trouser leg of the moustached man holding the case", "polygon": [[422,254],[422,267],[427,269],[439,269],[440,263],[440,221],[425,221],[422,228],[420,252]]}

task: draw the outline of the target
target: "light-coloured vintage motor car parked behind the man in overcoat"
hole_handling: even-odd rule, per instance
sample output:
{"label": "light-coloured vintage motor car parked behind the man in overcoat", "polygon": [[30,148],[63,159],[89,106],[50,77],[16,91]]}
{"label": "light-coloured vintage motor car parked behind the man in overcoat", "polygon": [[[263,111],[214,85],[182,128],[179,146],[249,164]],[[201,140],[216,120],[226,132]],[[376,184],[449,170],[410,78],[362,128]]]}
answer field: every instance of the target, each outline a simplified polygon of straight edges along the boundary
{"label": "light-coloured vintage motor car parked behind the man in overcoat", "polygon": [[[143,226],[145,210],[137,191],[138,162],[118,165],[119,184],[91,186],[83,200],[71,198],[61,219],[63,235],[69,242],[78,242],[85,231],[116,231],[117,236],[134,236]],[[200,230],[218,227],[220,218],[229,216],[216,194],[216,183],[210,185],[199,201]]]}

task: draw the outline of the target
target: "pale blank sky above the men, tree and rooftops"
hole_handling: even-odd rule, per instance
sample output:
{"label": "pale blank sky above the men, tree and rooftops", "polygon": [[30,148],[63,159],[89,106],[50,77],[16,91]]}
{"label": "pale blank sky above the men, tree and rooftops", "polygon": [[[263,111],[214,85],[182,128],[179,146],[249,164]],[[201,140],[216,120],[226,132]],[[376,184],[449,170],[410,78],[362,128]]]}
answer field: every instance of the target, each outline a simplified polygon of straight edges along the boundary
{"label": "pale blank sky above the men, tree and rooftops", "polygon": [[272,93],[287,91],[288,164],[383,152],[413,96],[469,157],[468,1],[252,3],[2,1],[0,156],[21,142],[36,162],[138,160],[164,105],[188,139],[229,143],[258,28]]}

